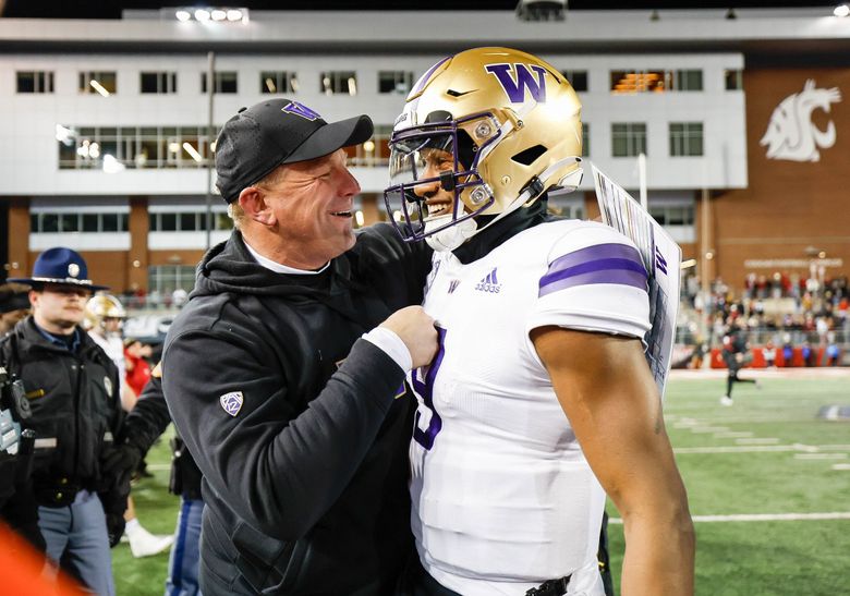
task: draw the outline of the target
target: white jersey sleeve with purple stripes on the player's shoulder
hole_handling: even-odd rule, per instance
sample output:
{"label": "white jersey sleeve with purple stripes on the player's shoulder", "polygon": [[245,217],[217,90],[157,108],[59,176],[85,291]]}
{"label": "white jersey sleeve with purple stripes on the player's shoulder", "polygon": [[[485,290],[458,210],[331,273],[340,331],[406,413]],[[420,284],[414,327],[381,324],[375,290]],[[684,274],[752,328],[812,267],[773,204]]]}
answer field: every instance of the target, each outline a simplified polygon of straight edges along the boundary
{"label": "white jersey sleeve with purple stripes on the player's shoulder", "polygon": [[643,338],[649,329],[646,268],[618,231],[582,222],[555,241],[547,264],[526,331],[554,325]]}

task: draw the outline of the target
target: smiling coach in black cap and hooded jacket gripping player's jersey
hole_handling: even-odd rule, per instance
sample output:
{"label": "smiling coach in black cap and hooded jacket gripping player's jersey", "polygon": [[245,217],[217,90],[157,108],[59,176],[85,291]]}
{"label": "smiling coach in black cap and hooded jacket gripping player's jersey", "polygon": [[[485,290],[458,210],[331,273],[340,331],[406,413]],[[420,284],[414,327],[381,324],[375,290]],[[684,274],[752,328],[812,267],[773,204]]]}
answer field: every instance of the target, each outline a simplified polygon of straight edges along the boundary
{"label": "smiling coach in black cap and hooded jacket gripping player's jersey", "polygon": [[198,265],[162,360],[204,474],[205,596],[391,594],[412,548],[402,391],[437,351],[409,306],[430,254],[389,224],[354,234],[344,148],[372,132],[272,99],[219,134],[235,229]]}

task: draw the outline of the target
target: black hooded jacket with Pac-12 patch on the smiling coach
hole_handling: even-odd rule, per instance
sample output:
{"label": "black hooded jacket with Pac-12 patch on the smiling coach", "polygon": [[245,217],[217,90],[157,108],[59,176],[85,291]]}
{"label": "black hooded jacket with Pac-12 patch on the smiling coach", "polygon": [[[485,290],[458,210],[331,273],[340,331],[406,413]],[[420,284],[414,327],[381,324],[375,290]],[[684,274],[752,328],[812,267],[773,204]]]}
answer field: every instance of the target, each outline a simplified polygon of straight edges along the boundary
{"label": "black hooded jacket with Pac-12 patch on the smiling coach", "polygon": [[429,267],[387,224],[315,276],[262,267],[238,231],[204,257],[162,386],[204,474],[205,596],[390,593],[412,547],[414,403],[359,338],[418,304]]}

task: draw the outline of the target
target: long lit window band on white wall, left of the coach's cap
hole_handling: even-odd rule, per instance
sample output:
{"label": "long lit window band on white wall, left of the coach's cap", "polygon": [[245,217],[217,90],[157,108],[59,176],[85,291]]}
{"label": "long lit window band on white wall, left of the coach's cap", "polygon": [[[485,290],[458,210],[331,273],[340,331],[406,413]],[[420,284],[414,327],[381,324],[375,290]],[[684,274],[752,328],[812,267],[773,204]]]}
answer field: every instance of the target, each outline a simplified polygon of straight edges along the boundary
{"label": "long lit window band on white wall, left of the coach's cap", "polygon": [[215,133],[206,126],[58,125],[59,168],[203,168]]}

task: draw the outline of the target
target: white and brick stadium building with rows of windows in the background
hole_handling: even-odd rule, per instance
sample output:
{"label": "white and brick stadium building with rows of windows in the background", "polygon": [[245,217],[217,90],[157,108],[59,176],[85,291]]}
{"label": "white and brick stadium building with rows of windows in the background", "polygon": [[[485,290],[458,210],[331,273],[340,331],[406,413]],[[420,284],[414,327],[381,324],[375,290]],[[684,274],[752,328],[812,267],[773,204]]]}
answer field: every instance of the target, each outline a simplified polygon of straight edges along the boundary
{"label": "white and brick stadium building with rows of windows in the background", "polygon": [[[649,210],[693,259],[689,275],[742,290],[748,276],[847,273],[850,17],[831,9],[180,16],[0,20],[3,276],[61,244],[116,292],[191,289],[230,229],[208,168],[216,131],[275,95],[328,120],[372,115],[374,138],[351,151],[356,223],[390,218],[387,141],[404,95],[436,60],[484,45],[567,75],[584,157],[635,197],[645,171]],[[586,168],[580,191],[551,203],[594,217],[592,188]]]}

